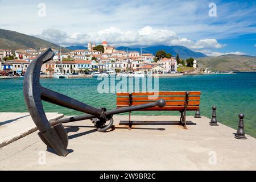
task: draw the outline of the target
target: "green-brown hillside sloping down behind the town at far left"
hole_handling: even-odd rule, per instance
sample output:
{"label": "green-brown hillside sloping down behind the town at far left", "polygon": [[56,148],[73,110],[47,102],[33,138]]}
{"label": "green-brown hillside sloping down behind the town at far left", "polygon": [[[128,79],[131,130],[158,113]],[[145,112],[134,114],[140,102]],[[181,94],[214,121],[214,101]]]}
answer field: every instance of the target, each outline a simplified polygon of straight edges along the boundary
{"label": "green-brown hillside sloping down behind the town at far left", "polygon": [[[0,29],[0,49],[11,49],[14,51],[16,49],[39,49],[47,47],[60,49],[58,45],[46,40],[42,40],[34,36],[20,34],[19,32]],[[61,51],[68,52],[69,49],[61,47]]]}

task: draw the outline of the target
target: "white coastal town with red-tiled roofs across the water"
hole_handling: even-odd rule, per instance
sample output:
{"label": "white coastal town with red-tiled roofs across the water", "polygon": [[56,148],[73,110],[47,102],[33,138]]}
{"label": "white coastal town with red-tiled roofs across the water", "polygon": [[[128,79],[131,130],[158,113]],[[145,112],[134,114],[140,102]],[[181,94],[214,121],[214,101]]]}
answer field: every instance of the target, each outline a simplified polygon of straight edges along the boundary
{"label": "white coastal town with red-tiled roofs across the water", "polygon": [[[95,43],[88,43],[87,49],[72,50],[63,52],[52,49],[55,56],[51,61],[43,64],[42,75],[54,75],[63,73],[66,75],[90,75],[94,73],[112,72],[119,73],[177,73],[178,64],[174,56],[156,57],[152,53],[138,51],[120,51],[104,41],[96,46]],[[12,52],[9,49],[0,49],[0,71],[1,75],[22,76],[30,62],[46,51],[47,48],[39,50],[17,49]],[[196,60],[193,67],[196,68]]]}

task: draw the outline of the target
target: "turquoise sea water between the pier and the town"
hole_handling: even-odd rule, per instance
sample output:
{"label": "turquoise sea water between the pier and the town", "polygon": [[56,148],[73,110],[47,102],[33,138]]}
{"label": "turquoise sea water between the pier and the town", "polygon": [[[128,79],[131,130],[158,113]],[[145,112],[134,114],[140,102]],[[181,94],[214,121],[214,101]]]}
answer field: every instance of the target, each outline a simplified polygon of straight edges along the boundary
{"label": "turquoise sea water between the pier and the town", "polygon": [[[115,94],[99,94],[97,78],[41,79],[46,88],[63,93],[96,107],[115,108]],[[118,81],[117,81],[118,82]],[[27,111],[22,91],[23,79],[0,80],[0,112]],[[256,137],[256,73],[234,75],[195,75],[159,78],[159,90],[201,91],[201,115],[210,118],[211,107],[217,106],[218,122],[237,129],[240,113],[245,114],[245,130]],[[57,111],[65,115],[80,114],[78,111],[43,102],[46,111]],[[144,115],[178,115],[174,111],[134,111]],[[188,112],[189,115],[195,112]]]}

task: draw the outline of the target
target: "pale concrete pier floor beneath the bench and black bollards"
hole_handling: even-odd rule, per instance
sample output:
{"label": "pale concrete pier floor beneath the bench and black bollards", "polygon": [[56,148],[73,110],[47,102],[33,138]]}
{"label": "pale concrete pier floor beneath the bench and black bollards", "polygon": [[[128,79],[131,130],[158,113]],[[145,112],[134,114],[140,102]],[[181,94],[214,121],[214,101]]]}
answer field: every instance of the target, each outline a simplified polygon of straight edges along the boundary
{"label": "pale concrete pier floor beneath the bench and black bollards", "polygon": [[[206,117],[114,115],[114,129],[99,133],[87,121],[65,123],[67,157],[54,154],[37,132],[0,148],[0,170],[255,170],[256,139],[234,138],[236,130]],[[125,121],[125,122],[123,122]],[[221,121],[220,121],[221,122]]]}

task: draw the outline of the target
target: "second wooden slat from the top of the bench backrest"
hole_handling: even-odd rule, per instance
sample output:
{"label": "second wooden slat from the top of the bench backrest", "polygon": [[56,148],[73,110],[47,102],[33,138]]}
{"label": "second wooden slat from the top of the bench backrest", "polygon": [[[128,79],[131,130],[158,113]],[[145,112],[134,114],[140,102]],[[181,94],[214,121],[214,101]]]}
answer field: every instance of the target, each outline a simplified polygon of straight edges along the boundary
{"label": "second wooden slat from the top of the bench backrest", "polygon": [[[151,101],[154,102],[159,99],[165,101],[185,101],[185,97],[132,97],[133,101]],[[129,97],[117,97],[117,101],[129,101]],[[188,97],[188,101],[200,101],[200,97]]]}

